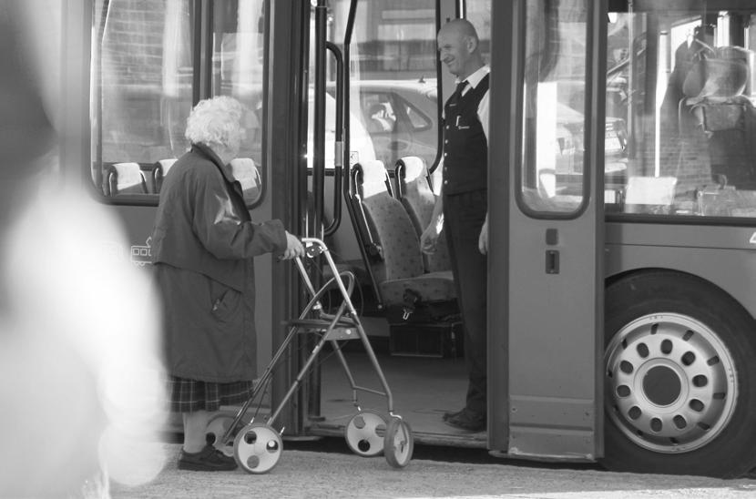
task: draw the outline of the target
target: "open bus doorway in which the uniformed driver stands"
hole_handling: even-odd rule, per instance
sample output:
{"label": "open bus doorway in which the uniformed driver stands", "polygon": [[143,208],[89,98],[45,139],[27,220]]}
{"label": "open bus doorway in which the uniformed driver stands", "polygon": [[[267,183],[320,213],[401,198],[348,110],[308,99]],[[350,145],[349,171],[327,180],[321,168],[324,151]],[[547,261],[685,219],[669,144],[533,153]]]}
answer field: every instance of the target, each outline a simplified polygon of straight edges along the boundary
{"label": "open bus doorway in which the uniformed driver stands", "polygon": [[[444,412],[455,412],[465,401],[465,362],[455,303],[438,300],[430,307],[433,311],[428,311],[428,306],[422,302],[416,309],[406,310],[401,296],[404,289],[399,291],[397,301],[392,297],[390,286],[385,284],[387,280],[398,280],[395,279],[397,274],[392,272],[399,271],[396,264],[400,263],[420,269],[414,276],[406,276],[416,278],[414,282],[421,279],[421,274],[435,272],[444,274],[447,288],[453,285],[450,267],[442,268],[444,263],[429,262],[421,255],[417,232],[421,228],[414,225],[414,212],[410,210],[408,199],[415,194],[427,196],[424,201],[430,202],[432,208],[432,186],[440,185],[434,184],[429,176],[434,170],[440,172],[436,168],[441,149],[439,111],[444,94],[448,97],[454,85],[444,81],[439,86],[439,81],[448,76],[439,71],[435,34],[439,19],[451,19],[460,13],[455,2],[438,4],[431,0],[418,0],[411,5],[326,2],[322,8],[327,10],[328,25],[320,30],[313,9],[311,45],[318,45],[313,36],[325,32],[328,40],[340,48],[344,59],[342,101],[339,100],[341,82],[336,75],[338,65],[330,56],[326,63],[325,123],[322,125],[326,142],[322,153],[325,158],[321,198],[325,199],[323,226],[329,226],[337,217],[338,208],[331,201],[334,196],[342,196],[341,225],[325,239],[342,267],[354,271],[363,284],[352,301],[371,337],[373,350],[379,353],[392,387],[394,407],[412,425],[415,442],[485,448],[485,432],[466,433],[443,421]],[[487,49],[490,5],[487,2],[472,4],[475,6],[469,8],[471,13],[481,11],[479,30]],[[375,24],[375,19],[380,22]],[[316,55],[311,55],[311,63],[317,59]],[[311,74],[317,75],[312,64]],[[317,92],[317,82],[312,81],[311,87]],[[335,150],[342,151],[339,159],[345,185],[339,184],[338,166],[333,158],[337,155],[332,156],[332,142],[338,136],[334,123],[337,123],[339,109],[342,109],[344,135],[343,145]],[[308,117],[311,129],[315,127],[312,137],[318,137],[320,118],[314,113],[316,110],[317,105],[311,107],[314,116]],[[315,141],[309,144],[313,199],[318,198],[320,183],[319,161],[312,158],[316,148]],[[371,183],[371,178],[379,178],[379,181]],[[418,188],[423,189],[422,192],[418,192]],[[371,209],[376,207],[391,213],[387,223],[381,225],[377,219],[362,218],[364,213],[374,214]],[[369,230],[363,230],[365,226]],[[394,230],[399,226],[406,229],[401,235]],[[383,229],[386,236],[381,239]],[[404,260],[396,260],[392,253],[400,245],[405,251]],[[435,265],[430,272],[428,264]],[[394,270],[389,269],[392,266]],[[356,350],[347,352],[355,381],[379,388],[363,352]],[[299,417],[306,433],[341,436],[355,412],[349,384],[337,359],[328,351],[320,362],[320,371],[311,376],[306,388],[309,394],[300,399]],[[360,406],[383,412],[384,400],[360,393]]]}

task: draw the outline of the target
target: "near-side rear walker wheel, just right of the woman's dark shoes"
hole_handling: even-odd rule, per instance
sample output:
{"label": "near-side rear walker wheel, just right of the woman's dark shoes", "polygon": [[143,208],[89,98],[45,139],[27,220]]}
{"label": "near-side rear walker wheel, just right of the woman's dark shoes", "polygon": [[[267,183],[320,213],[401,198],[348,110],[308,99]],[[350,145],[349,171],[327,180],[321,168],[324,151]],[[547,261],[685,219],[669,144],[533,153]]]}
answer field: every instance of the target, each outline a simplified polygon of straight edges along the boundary
{"label": "near-side rear walker wheel, just right of the woman's dark shoes", "polygon": [[281,435],[264,423],[243,427],[234,439],[236,463],[250,474],[270,472],[281,458]]}

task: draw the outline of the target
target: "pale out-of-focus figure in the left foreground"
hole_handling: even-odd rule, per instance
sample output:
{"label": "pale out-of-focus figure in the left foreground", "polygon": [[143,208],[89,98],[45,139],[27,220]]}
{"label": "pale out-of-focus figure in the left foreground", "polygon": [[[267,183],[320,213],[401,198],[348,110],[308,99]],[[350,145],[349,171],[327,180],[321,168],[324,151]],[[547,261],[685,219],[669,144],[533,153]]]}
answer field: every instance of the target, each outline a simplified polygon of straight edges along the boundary
{"label": "pale out-of-focus figure in the left foreground", "polygon": [[59,54],[23,22],[54,4],[0,4],[0,497],[109,497],[165,462],[159,319],[117,220],[56,175],[80,165],[58,164],[33,61]]}

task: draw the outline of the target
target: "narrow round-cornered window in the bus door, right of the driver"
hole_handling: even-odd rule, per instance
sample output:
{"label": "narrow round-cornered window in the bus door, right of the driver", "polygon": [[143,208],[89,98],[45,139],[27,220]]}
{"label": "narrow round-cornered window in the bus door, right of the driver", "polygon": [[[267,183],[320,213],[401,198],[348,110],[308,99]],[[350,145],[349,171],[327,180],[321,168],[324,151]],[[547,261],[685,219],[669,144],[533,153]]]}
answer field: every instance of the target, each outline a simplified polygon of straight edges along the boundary
{"label": "narrow round-cornered window in the bus door, right of the driver", "polygon": [[567,216],[584,199],[586,11],[582,2],[526,2],[520,200],[534,212]]}

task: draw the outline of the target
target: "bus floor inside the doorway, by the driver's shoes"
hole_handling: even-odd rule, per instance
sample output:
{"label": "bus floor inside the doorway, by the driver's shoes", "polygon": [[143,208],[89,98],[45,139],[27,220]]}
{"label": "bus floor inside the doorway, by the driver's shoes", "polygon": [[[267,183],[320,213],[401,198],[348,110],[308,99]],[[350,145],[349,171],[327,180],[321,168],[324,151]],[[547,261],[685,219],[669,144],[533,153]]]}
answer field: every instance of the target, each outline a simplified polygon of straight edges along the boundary
{"label": "bus floor inside the doorway, by the driver's shoes", "polygon": [[[344,358],[357,386],[383,392],[380,378],[362,349],[344,351]],[[386,349],[375,355],[393,395],[393,413],[413,430],[416,443],[486,446],[485,432],[470,433],[443,421],[444,412],[455,412],[465,402],[467,381],[465,360],[457,358],[393,356]],[[321,418],[311,419],[308,433],[342,436],[352,416],[358,412],[342,363],[332,351],[323,351],[321,365]],[[371,392],[357,392],[363,411],[388,414],[388,399]]]}

